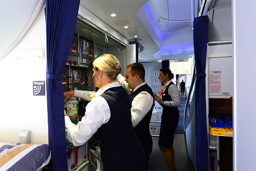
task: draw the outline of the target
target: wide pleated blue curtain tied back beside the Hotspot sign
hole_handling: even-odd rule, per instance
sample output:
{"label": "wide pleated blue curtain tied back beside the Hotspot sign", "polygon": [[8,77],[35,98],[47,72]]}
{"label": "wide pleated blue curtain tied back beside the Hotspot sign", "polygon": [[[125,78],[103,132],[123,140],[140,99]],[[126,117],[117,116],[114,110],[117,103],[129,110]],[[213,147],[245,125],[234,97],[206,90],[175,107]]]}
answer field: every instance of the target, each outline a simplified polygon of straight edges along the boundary
{"label": "wide pleated blue curtain tied back beside the Hotspot sign", "polygon": [[67,171],[62,71],[75,31],[80,0],[46,0],[48,136],[54,171]]}

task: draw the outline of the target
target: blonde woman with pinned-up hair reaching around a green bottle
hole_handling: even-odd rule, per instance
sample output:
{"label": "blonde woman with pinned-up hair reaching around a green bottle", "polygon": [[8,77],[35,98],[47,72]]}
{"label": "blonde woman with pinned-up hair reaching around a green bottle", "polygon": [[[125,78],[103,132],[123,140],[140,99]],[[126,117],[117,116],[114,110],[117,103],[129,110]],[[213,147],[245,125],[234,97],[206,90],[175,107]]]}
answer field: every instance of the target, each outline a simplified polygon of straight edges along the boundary
{"label": "blonde woman with pinned-up hair reaching around a green bottle", "polygon": [[[81,122],[75,125],[65,116],[66,136],[79,146],[98,130],[104,171],[146,171],[145,153],[132,128],[129,97],[116,81],[120,71],[113,55],[104,54],[93,61],[93,82],[99,89],[91,95]],[[86,99],[79,90],[64,92],[64,96],[72,93]]]}

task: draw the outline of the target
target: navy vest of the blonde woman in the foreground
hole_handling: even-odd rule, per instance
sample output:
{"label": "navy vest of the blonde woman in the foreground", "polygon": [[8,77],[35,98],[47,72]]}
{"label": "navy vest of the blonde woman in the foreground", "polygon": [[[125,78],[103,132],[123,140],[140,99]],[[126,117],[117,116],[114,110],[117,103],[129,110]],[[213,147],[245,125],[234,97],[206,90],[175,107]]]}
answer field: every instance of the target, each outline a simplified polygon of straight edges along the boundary
{"label": "navy vest of the blonde woman in the foreground", "polygon": [[136,154],[144,152],[132,128],[129,97],[122,87],[109,88],[101,95],[110,107],[110,120],[99,129],[101,158],[104,169],[127,164]]}

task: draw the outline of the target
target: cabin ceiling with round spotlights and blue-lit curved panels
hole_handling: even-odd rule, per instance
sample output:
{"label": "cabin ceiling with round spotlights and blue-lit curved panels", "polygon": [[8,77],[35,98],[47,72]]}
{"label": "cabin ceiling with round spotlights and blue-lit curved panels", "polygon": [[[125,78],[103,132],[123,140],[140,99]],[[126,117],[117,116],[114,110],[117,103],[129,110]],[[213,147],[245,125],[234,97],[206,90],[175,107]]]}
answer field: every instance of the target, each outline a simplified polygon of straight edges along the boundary
{"label": "cabin ceiling with round spotlights and blue-lit curved panels", "polygon": [[135,39],[146,61],[194,54],[191,0],[80,0],[80,5],[126,39]]}

